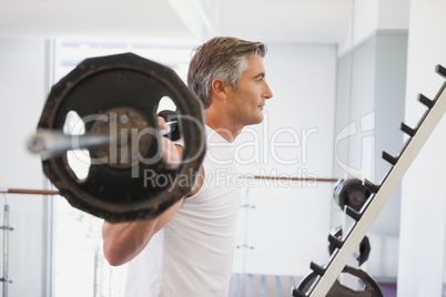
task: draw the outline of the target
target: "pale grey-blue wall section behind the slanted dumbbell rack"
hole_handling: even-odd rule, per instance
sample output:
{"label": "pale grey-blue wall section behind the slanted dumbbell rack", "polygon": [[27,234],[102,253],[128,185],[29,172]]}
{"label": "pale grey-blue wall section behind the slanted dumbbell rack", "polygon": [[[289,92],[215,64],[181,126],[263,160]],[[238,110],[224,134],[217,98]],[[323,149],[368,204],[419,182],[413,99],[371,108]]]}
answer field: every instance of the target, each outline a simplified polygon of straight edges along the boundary
{"label": "pale grey-blue wall section behind the slanted dumbbell rack", "polygon": [[[379,184],[389,170],[389,164],[381,157],[382,152],[399,153],[406,53],[407,34],[382,32],[338,60],[335,175],[344,177],[348,173]],[[344,134],[346,131],[348,134]],[[367,233],[372,252],[362,268],[375,278],[396,278],[399,205],[397,188]],[[343,216],[335,206],[334,227],[342,224]]]}

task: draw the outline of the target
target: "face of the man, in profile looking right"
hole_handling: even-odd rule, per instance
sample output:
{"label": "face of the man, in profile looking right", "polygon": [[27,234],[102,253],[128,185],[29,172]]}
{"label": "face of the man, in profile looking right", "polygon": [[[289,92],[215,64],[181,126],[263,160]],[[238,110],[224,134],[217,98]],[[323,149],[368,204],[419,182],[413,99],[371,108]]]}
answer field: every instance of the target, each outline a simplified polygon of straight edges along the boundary
{"label": "face of the man, in profile looking right", "polygon": [[229,91],[229,113],[235,123],[245,125],[259,124],[263,121],[265,100],[273,93],[265,80],[263,59],[254,55],[249,60],[249,69],[243,72],[236,91]]}

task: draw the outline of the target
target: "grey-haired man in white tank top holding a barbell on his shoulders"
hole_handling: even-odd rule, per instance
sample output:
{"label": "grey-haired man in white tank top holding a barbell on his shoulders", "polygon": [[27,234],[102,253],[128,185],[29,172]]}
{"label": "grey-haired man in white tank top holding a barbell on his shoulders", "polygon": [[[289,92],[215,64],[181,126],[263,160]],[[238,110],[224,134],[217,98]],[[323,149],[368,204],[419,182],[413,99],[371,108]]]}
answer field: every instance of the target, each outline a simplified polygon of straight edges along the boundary
{"label": "grey-haired man in white tank top holding a barbell on his shoulders", "polygon": [[[234,176],[232,144],[245,125],[262,122],[273,96],[265,54],[263,43],[235,38],[196,49],[187,83],[204,104],[209,148],[193,193],[155,219],[103,225],[109,263],[131,262],[126,296],[227,296],[240,188],[221,178]],[[182,147],[164,142],[168,157],[179,160]]]}

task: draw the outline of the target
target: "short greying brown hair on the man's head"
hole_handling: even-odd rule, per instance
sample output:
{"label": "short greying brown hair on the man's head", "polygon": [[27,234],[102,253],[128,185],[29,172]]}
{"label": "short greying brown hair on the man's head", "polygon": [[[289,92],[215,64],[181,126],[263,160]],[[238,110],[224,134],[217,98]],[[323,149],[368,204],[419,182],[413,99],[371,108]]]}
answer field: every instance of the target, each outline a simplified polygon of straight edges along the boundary
{"label": "short greying brown hair on the man's head", "polygon": [[262,42],[251,42],[230,37],[217,37],[195,49],[189,64],[187,84],[204,107],[211,105],[211,85],[216,78],[237,90],[242,73],[247,70],[247,60],[259,54],[264,58],[267,48]]}

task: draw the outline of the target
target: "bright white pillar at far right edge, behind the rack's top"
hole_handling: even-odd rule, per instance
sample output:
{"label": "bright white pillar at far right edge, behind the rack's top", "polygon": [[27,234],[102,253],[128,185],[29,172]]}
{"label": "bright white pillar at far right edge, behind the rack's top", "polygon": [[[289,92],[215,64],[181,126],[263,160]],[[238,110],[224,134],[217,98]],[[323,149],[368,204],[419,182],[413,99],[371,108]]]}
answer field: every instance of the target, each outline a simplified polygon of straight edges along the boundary
{"label": "bright white pillar at far right edge, behind the rack's top", "polygon": [[[410,1],[406,119],[416,126],[425,107],[418,93],[433,99],[445,81],[435,65],[446,65],[445,1]],[[409,167],[402,184],[398,296],[442,296],[446,217],[446,117]]]}

